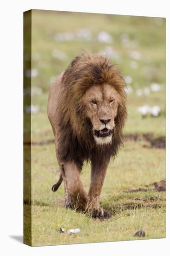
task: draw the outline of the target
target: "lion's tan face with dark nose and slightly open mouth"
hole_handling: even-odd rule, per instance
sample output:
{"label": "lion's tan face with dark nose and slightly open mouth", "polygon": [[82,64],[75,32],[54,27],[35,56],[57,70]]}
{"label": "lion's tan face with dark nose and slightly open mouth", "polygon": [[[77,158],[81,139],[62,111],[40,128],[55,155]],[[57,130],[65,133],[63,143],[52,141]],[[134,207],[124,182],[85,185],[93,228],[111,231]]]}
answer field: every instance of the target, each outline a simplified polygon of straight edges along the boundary
{"label": "lion's tan face with dark nose and slightly open mouth", "polygon": [[112,141],[119,95],[111,85],[93,85],[83,97],[86,115],[92,122],[92,134],[97,144]]}

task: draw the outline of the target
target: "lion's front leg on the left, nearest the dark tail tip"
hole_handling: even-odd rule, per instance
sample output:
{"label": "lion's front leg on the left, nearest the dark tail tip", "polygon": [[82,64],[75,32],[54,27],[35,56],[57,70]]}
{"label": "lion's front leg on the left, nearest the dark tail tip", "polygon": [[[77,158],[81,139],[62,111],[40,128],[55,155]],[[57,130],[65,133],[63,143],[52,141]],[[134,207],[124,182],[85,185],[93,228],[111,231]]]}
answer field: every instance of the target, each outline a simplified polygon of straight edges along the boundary
{"label": "lion's front leg on the left, nearest the dark tail tip", "polygon": [[65,186],[65,207],[85,210],[88,195],[80,179],[80,170],[74,162],[65,162],[62,169]]}

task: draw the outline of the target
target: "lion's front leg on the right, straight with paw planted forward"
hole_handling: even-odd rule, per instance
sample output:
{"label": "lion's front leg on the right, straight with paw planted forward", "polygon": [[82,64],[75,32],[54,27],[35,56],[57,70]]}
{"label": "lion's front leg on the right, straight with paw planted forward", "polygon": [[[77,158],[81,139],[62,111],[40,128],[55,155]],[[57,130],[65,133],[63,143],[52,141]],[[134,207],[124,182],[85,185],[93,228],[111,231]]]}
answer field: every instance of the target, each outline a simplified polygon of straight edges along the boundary
{"label": "lion's front leg on the right, straight with paw planted forward", "polygon": [[109,160],[93,159],[91,162],[91,184],[89,189],[89,206],[93,217],[105,216],[107,213],[100,208],[100,194],[105,180]]}

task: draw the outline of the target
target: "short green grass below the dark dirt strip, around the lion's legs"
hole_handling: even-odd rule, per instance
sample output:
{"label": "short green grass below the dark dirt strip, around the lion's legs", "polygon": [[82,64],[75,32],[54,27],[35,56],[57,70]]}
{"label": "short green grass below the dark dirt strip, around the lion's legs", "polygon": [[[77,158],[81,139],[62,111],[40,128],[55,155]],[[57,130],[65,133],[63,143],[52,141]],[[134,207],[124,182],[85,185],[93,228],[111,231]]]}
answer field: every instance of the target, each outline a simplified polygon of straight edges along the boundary
{"label": "short green grass below the dark dirt strip, around the lion's legs", "polygon": [[[33,246],[133,240],[137,239],[133,234],[141,227],[145,239],[165,237],[165,193],[149,186],[165,176],[164,149],[144,148],[141,142],[125,143],[115,161],[111,161],[105,178],[101,206],[112,213],[111,219],[105,221],[65,209],[63,184],[56,193],[52,192],[52,184],[59,177],[54,145],[33,146],[32,155]],[[84,166],[81,178],[88,191],[89,165]],[[139,187],[148,191],[124,192]],[[61,234],[61,227],[79,228],[81,232]]]}

